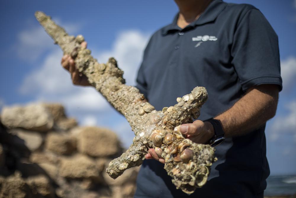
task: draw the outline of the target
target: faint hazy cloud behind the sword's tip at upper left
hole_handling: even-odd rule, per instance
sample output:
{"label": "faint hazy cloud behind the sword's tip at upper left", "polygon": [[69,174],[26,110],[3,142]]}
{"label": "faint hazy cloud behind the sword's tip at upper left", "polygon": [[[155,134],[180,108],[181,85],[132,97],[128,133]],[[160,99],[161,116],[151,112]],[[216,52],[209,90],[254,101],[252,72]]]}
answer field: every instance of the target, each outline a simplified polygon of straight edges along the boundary
{"label": "faint hazy cloud behind the sword's tip at upper left", "polygon": [[[70,34],[80,28],[78,24],[63,24],[59,19],[54,20]],[[25,61],[35,61],[46,50],[54,49],[53,40],[41,26],[34,26],[21,31],[17,35],[17,44],[14,47],[18,57]]]}

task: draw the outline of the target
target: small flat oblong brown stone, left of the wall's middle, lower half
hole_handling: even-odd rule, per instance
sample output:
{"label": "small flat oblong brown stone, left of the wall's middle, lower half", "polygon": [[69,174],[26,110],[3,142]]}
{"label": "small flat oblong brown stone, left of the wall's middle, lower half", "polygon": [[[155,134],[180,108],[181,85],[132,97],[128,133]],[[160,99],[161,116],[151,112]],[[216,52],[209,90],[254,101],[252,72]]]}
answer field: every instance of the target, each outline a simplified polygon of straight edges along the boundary
{"label": "small flat oblong brown stone, left of the wall's middle, lower half", "polygon": [[35,152],[30,155],[30,162],[41,164],[41,163],[49,163],[49,164],[57,164],[59,162],[59,158],[56,154],[51,152]]}

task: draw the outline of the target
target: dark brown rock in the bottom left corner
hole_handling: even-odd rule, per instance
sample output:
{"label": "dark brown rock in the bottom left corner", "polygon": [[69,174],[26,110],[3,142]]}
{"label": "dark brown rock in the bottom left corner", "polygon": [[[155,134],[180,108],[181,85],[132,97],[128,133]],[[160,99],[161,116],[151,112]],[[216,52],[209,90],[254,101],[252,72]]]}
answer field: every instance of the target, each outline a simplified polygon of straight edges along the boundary
{"label": "dark brown rock in the bottom left corner", "polygon": [[0,177],[0,197],[33,198],[33,193],[20,175]]}

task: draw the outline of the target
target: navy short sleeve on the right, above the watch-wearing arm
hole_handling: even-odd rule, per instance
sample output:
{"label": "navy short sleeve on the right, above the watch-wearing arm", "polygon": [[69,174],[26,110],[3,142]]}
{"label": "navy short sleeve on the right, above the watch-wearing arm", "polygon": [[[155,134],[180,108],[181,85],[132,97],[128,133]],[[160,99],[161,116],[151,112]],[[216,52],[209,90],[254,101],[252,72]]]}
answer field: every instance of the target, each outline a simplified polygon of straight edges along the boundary
{"label": "navy short sleeve on the right, above the watch-wearing arm", "polygon": [[258,9],[248,10],[238,21],[231,56],[244,91],[261,84],[282,89],[278,37]]}

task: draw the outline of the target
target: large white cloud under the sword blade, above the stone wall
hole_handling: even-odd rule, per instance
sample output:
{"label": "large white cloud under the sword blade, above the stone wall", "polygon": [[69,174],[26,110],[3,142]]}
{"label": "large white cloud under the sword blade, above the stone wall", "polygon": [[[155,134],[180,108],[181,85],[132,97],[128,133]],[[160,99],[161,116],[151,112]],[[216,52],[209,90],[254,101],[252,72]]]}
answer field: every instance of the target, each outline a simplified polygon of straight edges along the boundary
{"label": "large white cloud under the sword blade, above the stone wall", "polygon": [[102,110],[109,104],[94,88],[74,86],[62,69],[62,52],[53,50],[39,69],[25,77],[20,92],[34,94],[39,101],[61,102],[69,110]]}

